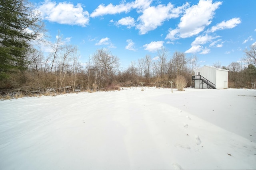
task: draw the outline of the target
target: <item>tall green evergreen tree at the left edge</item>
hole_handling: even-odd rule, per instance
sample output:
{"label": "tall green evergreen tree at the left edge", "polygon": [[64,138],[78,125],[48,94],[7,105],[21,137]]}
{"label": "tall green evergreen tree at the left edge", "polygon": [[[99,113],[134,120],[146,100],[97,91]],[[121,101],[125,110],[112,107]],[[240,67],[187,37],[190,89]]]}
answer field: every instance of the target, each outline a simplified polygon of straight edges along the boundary
{"label": "tall green evergreen tree at the left edge", "polygon": [[30,41],[36,38],[30,28],[38,26],[30,12],[25,0],[0,0],[0,80],[26,70]]}

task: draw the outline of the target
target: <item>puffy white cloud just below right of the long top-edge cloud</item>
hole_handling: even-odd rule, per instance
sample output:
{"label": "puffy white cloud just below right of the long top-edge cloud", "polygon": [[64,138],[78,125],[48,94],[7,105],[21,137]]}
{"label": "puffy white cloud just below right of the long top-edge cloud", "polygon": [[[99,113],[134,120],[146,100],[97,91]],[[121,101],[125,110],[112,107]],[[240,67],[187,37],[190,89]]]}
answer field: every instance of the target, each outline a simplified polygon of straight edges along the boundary
{"label": "puffy white cloud just below right of the long top-edge cloud", "polygon": [[174,8],[169,2],[167,6],[162,4],[158,6],[150,6],[143,11],[143,14],[138,18],[138,25],[136,28],[140,30],[140,34],[146,34],[148,31],[156,29],[162,25],[164,21],[171,18],[177,18],[184,11],[188,3],[181,7]]}

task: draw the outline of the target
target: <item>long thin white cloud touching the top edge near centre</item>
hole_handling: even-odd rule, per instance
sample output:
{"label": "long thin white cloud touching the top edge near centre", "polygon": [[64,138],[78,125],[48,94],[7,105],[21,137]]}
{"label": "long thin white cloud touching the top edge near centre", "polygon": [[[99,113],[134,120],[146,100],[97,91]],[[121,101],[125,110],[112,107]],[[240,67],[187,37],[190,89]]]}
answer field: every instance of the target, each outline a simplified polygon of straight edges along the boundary
{"label": "long thin white cloud touching the top edge near centre", "polygon": [[142,10],[151,4],[152,0],[135,0],[134,2],[126,3],[122,1],[118,5],[113,5],[112,3],[105,6],[105,4],[100,4],[90,15],[92,18],[98,16],[104,16],[107,14],[120,14],[122,12],[130,12],[130,10],[137,8]]}

